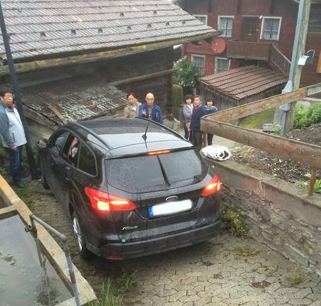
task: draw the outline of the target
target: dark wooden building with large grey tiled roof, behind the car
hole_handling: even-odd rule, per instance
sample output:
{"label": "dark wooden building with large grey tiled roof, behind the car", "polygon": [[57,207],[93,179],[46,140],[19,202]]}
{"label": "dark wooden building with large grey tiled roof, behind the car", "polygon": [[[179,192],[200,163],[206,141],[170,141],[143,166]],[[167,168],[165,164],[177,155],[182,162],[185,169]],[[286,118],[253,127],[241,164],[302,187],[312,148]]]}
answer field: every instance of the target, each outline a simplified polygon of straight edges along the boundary
{"label": "dark wooden building with large grey tiled roof, behind the car", "polygon": [[[27,119],[122,115],[125,95],[148,92],[171,109],[173,46],[216,31],[167,0],[2,0]],[[10,76],[0,43],[0,81]],[[30,122],[30,121],[29,121]]]}

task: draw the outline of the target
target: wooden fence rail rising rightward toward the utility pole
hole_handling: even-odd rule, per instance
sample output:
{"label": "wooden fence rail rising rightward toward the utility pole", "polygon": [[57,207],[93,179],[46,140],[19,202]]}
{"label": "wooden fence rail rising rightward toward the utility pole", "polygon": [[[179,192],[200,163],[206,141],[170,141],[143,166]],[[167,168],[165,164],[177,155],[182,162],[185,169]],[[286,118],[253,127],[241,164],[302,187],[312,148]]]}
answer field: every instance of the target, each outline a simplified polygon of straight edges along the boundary
{"label": "wooden fence rail rising rightward toward the utility pole", "polygon": [[240,105],[232,109],[228,109],[211,115],[206,115],[205,117],[220,122],[231,122],[233,120],[243,118],[248,115],[253,115],[265,110],[275,108],[276,106],[282,105],[284,103],[301,100],[307,96],[307,88],[309,87],[303,87],[285,94]]}

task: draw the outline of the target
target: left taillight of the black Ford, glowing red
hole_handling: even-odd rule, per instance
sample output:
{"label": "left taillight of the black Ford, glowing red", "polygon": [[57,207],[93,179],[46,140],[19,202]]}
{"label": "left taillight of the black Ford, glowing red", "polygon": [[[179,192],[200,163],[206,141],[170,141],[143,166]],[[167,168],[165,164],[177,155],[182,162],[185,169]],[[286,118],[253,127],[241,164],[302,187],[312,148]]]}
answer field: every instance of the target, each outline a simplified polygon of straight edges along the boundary
{"label": "left taillight of the black Ford, glowing red", "polygon": [[114,194],[85,187],[91,206],[98,211],[131,211],[137,206],[130,200]]}

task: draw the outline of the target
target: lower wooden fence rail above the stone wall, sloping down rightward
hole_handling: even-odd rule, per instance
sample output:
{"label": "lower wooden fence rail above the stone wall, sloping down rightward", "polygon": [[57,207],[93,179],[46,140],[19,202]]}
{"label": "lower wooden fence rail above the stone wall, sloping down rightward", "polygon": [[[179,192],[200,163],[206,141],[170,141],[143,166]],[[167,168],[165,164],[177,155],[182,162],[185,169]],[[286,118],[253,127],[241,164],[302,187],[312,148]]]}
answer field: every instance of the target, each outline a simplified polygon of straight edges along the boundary
{"label": "lower wooden fence rail above the stone wall, sloping down rightward", "polygon": [[201,117],[201,131],[321,168],[321,147]]}

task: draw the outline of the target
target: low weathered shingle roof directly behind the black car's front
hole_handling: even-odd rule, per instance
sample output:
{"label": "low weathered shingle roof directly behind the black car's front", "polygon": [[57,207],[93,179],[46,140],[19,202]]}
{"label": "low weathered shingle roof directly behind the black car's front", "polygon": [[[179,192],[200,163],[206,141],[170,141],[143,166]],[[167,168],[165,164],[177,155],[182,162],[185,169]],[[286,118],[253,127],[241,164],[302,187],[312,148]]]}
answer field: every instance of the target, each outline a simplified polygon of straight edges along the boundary
{"label": "low weathered shingle roof directly behind the black car's front", "polygon": [[63,122],[50,106],[66,120],[79,121],[121,109],[127,104],[125,92],[96,78],[70,78],[33,85],[22,88],[21,95],[26,107],[58,125]]}

